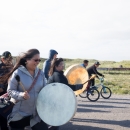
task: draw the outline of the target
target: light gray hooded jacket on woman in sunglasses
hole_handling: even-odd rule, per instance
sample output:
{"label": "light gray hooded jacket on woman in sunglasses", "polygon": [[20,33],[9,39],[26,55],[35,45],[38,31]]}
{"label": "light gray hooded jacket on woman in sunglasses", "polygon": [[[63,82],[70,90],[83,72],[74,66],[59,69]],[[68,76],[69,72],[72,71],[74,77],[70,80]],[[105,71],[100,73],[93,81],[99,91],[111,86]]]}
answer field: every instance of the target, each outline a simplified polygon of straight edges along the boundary
{"label": "light gray hooded jacket on woman in sunglasses", "polygon": [[12,113],[9,115],[9,120],[16,121],[16,120],[20,120],[25,116],[32,115],[32,119],[30,121],[31,126],[41,121],[36,110],[36,101],[37,101],[38,93],[45,86],[44,73],[41,71],[36,84],[29,92],[30,98],[28,100],[25,100],[21,96],[23,92],[22,87],[18,84],[17,80],[15,79],[15,76],[19,75],[20,81],[24,85],[25,89],[28,90],[33,80],[37,76],[38,70],[39,69],[36,68],[34,78],[23,66],[19,67],[12,74],[12,77],[9,80],[7,92],[11,96],[11,98],[17,101],[17,103],[14,105]]}

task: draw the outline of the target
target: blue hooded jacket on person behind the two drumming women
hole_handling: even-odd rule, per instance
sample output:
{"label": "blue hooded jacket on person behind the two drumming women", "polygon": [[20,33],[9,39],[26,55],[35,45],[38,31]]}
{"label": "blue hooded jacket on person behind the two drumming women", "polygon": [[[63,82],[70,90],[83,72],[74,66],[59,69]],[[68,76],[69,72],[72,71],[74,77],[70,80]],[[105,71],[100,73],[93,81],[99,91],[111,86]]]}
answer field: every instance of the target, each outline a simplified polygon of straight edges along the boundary
{"label": "blue hooded jacket on person behind the two drumming women", "polygon": [[50,66],[51,66],[51,61],[53,59],[53,56],[55,54],[58,54],[57,51],[55,50],[50,50],[49,52],[49,58],[47,60],[45,60],[45,62],[43,63],[43,72],[45,74],[45,78],[48,79],[48,73],[49,73],[49,69],[50,69]]}

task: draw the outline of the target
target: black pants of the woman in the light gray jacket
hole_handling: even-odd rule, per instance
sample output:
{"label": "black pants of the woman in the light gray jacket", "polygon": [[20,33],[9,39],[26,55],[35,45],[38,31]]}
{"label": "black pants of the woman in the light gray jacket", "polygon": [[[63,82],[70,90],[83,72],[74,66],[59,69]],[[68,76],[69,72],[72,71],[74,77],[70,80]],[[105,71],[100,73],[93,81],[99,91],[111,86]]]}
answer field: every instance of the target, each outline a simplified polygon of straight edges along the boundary
{"label": "black pants of the woman in the light gray jacket", "polygon": [[[30,117],[23,118],[19,121],[10,122],[11,130],[24,130],[26,126],[30,126]],[[34,125],[32,130],[48,130],[48,126],[41,121]]]}

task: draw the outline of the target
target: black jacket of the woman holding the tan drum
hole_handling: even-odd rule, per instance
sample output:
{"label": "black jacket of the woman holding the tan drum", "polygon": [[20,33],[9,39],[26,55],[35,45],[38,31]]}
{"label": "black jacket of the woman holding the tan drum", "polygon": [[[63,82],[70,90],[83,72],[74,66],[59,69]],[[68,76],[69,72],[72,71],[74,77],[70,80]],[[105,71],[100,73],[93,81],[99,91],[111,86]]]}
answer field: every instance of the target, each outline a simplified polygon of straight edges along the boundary
{"label": "black jacket of the woman holding the tan drum", "polygon": [[58,82],[58,83],[63,83],[68,85],[73,91],[76,91],[76,85],[70,85],[68,84],[68,80],[67,78],[64,76],[63,71],[55,71],[53,73],[52,76],[49,77],[47,84],[50,83],[54,83],[54,82]]}

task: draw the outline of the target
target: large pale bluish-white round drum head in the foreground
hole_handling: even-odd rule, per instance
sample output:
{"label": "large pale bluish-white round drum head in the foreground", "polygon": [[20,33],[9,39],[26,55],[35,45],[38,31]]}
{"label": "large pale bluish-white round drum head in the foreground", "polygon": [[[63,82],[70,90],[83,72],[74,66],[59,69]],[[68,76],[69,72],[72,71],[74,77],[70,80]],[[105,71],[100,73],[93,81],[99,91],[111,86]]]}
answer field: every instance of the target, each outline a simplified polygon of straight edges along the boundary
{"label": "large pale bluish-white round drum head in the foreground", "polygon": [[65,84],[46,85],[37,98],[37,112],[40,118],[51,126],[66,124],[77,110],[74,92]]}

